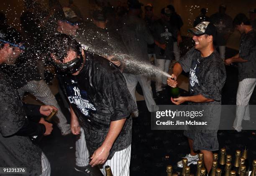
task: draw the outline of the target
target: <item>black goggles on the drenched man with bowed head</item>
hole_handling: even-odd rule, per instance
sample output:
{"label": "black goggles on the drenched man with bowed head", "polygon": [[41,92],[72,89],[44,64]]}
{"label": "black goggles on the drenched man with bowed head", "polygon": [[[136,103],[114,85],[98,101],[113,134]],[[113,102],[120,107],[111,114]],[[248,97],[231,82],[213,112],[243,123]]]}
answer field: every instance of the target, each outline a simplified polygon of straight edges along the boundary
{"label": "black goggles on the drenched man with bowed head", "polygon": [[82,57],[82,54],[80,54],[80,58],[76,57],[72,61],[69,61],[67,63],[57,63],[57,62],[54,62],[54,63],[61,72],[69,72],[73,74],[82,68],[83,60],[84,59]]}

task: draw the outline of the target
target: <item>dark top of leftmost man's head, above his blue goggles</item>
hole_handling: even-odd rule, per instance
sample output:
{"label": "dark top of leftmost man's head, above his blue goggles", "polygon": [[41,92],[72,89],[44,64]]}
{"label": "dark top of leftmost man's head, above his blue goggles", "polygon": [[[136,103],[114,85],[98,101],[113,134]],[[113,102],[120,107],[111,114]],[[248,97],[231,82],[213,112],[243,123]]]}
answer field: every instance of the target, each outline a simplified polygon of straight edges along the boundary
{"label": "dark top of leftmost man's head, above his blue goggles", "polygon": [[[0,25],[0,42],[9,43],[14,47],[19,47],[18,44],[20,44],[21,41],[22,38],[20,32],[10,25]],[[24,49],[23,46],[20,46],[19,48],[22,50]]]}

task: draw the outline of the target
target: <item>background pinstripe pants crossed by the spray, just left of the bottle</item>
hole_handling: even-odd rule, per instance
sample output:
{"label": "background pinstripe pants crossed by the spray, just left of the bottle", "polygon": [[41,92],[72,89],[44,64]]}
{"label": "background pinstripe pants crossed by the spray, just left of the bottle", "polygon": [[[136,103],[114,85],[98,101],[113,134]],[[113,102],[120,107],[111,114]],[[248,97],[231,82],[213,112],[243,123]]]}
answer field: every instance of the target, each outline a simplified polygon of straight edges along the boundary
{"label": "background pinstripe pants crossed by the spray, just left of the bottle", "polygon": [[[156,67],[158,67],[161,71],[168,72],[170,67],[171,60],[168,59],[156,59]],[[167,84],[167,77],[164,75],[156,76],[156,92],[159,92],[162,89],[162,84]]]}

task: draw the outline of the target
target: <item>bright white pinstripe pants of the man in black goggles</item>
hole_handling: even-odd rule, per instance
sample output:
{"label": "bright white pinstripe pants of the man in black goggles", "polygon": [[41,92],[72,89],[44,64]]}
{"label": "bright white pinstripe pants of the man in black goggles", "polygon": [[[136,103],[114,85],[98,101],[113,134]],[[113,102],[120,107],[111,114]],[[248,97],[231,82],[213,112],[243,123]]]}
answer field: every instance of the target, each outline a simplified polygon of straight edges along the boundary
{"label": "bright white pinstripe pants of the man in black goggles", "polygon": [[100,165],[101,173],[106,176],[105,166],[110,166],[113,176],[130,176],[131,144],[121,151],[116,151],[112,159]]}

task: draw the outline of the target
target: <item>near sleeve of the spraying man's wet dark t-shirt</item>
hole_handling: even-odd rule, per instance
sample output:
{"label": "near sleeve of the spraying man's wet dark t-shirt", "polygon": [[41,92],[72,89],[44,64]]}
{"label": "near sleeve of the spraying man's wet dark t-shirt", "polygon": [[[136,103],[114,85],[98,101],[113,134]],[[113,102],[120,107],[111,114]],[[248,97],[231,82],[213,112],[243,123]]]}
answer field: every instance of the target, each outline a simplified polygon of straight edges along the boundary
{"label": "near sleeve of the spraying man's wet dark t-shirt", "polygon": [[205,77],[200,82],[200,94],[207,99],[221,100],[221,90],[225,83],[226,74],[225,67],[222,65],[209,64],[205,69]]}

